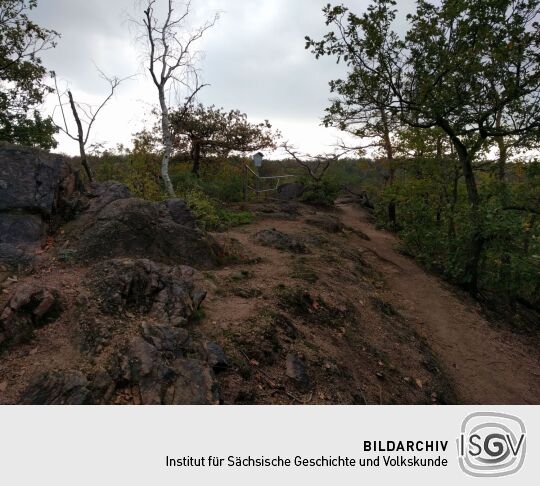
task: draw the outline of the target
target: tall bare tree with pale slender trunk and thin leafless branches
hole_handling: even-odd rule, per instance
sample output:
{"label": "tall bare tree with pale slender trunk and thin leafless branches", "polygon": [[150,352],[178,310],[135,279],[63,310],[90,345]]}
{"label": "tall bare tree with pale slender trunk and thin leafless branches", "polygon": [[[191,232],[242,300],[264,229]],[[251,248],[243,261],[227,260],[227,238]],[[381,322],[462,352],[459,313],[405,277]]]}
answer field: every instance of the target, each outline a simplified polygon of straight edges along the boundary
{"label": "tall bare tree with pale slender trunk and thin leafless branches", "polygon": [[156,14],[157,0],[144,0],[146,9],[142,24],[147,47],[147,67],[157,88],[161,111],[162,143],[161,177],[167,193],[174,197],[174,188],[169,177],[173,139],[169,115],[168,97],[171,90],[178,96],[185,94],[184,110],[191,105],[197,93],[205,86],[200,84],[197,71],[199,52],[194,49],[205,32],[213,27],[218,14],[196,30],[187,25],[191,14],[191,1],[177,11],[176,2],[167,0],[165,19]]}

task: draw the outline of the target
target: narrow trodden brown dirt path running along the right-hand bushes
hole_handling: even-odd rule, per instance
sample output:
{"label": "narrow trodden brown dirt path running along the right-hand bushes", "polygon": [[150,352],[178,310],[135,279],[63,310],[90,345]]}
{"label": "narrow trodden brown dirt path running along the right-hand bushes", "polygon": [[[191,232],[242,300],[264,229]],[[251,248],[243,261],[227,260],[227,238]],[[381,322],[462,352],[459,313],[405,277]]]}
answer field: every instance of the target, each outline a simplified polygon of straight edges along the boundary
{"label": "narrow trodden brown dirt path running along the right-hand bushes", "polygon": [[523,336],[496,328],[476,305],[395,250],[397,239],[379,231],[361,209],[341,204],[341,218],[370,241],[358,242],[388,285],[387,299],[423,336],[454,382],[463,404],[538,404],[540,360]]}

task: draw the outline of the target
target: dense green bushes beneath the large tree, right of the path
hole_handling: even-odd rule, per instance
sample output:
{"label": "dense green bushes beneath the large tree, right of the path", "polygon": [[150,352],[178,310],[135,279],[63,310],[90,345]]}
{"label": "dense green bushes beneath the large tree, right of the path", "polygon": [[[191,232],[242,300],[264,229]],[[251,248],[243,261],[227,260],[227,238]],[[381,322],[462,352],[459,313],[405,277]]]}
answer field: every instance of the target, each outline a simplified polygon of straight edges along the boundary
{"label": "dense green bushes beneath the large tree, right of the path", "polygon": [[[495,166],[495,164],[493,164]],[[501,188],[489,164],[478,174],[480,224],[485,239],[479,288],[509,305],[520,301],[540,309],[540,170],[538,162],[510,163]],[[467,287],[468,244],[476,228],[460,172],[434,159],[400,165],[392,186],[377,194],[376,215],[388,225],[388,201],[397,206],[402,251],[426,268]],[[392,228],[393,229],[393,228]]]}

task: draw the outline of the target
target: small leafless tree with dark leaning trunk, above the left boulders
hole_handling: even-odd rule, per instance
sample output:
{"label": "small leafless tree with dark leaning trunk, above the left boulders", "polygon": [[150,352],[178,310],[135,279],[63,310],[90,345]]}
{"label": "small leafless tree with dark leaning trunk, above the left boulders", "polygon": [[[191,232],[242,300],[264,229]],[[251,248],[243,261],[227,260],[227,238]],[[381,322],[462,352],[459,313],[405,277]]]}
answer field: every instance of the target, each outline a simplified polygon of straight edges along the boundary
{"label": "small leafless tree with dark leaning trunk, above the left boulders", "polygon": [[[84,170],[90,182],[94,182],[95,177],[94,177],[92,168],[90,167],[90,164],[88,163],[88,158],[86,156],[86,144],[88,143],[88,139],[90,138],[92,127],[94,126],[94,123],[99,113],[103,110],[105,105],[114,96],[114,93],[116,89],[118,88],[118,86],[120,86],[122,81],[124,81],[124,79],[118,79],[116,77],[108,78],[101,71],[100,71],[100,75],[103,79],[105,79],[109,83],[110,91],[109,91],[108,96],[103,100],[103,102],[97,108],[95,108],[88,104],[77,103],[73,97],[73,93],[69,89],[64,94],[60,93],[60,91],[58,90],[58,82],[56,80],[56,74],[53,73],[54,85],[56,88],[56,93],[58,95],[58,107],[60,108],[60,112],[62,113],[62,123],[63,123],[63,126],[56,124],[56,127],[60,131],[65,133],[69,138],[71,138],[72,140],[75,140],[79,144],[79,153],[81,156],[81,163],[82,163],[82,166],[84,167]],[[65,96],[67,96],[68,98],[67,102],[64,102],[62,99]],[[64,105],[69,105],[71,112],[73,114],[73,119],[75,120],[75,125],[77,127],[77,130],[75,133],[70,131],[68,127],[66,113],[64,111]],[[86,127],[84,127],[83,124],[85,124]]]}

